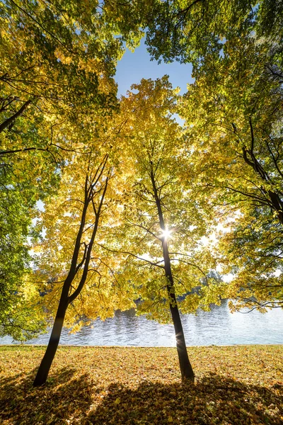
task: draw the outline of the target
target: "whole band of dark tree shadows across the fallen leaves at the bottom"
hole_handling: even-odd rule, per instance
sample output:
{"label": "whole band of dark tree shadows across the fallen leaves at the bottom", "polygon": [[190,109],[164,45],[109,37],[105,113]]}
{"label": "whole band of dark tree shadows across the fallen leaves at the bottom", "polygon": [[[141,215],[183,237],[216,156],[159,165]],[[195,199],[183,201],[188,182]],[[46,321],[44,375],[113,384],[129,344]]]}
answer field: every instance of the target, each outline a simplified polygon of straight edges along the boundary
{"label": "whole band of dark tree shadows across the fallen leaves at the bottom", "polygon": [[267,388],[209,375],[195,385],[144,380],[134,389],[120,382],[103,386],[66,367],[33,388],[35,373],[0,381],[1,424],[283,424],[278,384]]}

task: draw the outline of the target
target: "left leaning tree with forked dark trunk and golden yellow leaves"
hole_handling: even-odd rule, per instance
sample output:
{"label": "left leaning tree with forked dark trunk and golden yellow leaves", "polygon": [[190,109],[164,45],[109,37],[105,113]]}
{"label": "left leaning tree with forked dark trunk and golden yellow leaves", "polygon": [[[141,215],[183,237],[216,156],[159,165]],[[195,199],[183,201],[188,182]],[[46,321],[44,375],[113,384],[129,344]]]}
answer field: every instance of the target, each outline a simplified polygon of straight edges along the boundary
{"label": "left leaning tree with forked dark trunk and golden yellow leaves", "polygon": [[40,256],[30,280],[41,283],[41,305],[47,317],[54,317],[54,325],[34,386],[47,379],[63,324],[75,332],[91,319],[112,317],[115,310],[134,306],[129,284],[120,285],[115,276],[117,259],[105,256],[100,247],[112,220],[119,220],[115,207],[123,183],[123,153],[115,144],[120,127],[114,118],[108,117],[108,128],[104,117],[97,120],[100,132],[88,135],[81,154],[67,152],[59,190],[38,217],[37,225],[46,234],[35,244]]}

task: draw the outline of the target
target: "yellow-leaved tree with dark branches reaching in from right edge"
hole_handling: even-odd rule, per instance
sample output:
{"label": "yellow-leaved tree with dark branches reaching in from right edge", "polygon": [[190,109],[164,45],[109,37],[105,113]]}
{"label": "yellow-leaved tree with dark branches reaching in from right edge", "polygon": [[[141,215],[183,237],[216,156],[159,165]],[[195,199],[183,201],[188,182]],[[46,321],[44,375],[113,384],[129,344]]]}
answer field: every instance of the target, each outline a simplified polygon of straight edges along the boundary
{"label": "yellow-leaved tree with dark branches reaching in from right edge", "polygon": [[248,307],[282,305],[282,81],[272,47],[249,33],[226,42],[217,62],[195,72],[182,106],[195,193],[224,225],[236,220],[219,246],[235,273],[222,296]]}

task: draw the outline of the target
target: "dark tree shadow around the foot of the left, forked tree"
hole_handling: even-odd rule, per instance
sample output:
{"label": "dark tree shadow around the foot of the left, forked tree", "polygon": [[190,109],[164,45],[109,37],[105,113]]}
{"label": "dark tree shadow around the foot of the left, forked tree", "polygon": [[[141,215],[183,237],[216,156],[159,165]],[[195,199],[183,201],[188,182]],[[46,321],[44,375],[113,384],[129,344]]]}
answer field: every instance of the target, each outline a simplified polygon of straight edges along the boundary
{"label": "dark tree shadow around the foot of the left, forked tree", "polygon": [[46,385],[33,388],[36,372],[0,380],[0,423],[79,424],[91,404],[88,375],[75,378],[76,369],[66,367],[50,375]]}

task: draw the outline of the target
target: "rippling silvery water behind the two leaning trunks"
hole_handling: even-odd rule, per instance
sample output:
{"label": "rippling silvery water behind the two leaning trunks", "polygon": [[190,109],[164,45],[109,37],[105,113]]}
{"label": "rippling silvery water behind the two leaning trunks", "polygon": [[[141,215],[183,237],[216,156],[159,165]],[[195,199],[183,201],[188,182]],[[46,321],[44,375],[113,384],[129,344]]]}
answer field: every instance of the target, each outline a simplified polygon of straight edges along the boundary
{"label": "rippling silvery water behind the two leaning trunks", "polygon": [[[182,316],[187,346],[233,344],[283,344],[283,310],[266,314],[229,312],[227,302],[212,307],[211,312],[200,311]],[[50,333],[25,344],[47,344]],[[10,337],[0,344],[13,344]],[[93,327],[83,327],[77,334],[63,329],[60,344],[86,346],[175,346],[173,324],[158,324],[138,317],[134,310],[116,312],[105,322],[96,320]]]}

